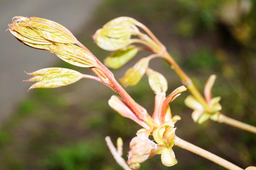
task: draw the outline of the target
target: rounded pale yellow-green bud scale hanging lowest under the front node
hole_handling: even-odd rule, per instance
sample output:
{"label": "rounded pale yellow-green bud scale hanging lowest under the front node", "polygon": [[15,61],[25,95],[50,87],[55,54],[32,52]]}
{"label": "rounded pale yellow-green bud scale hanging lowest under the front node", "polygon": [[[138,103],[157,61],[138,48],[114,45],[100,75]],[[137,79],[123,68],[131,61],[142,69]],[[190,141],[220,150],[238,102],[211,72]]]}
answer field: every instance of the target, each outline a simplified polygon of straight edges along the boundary
{"label": "rounded pale yellow-green bud scale hanging lowest under the front node", "polygon": [[173,166],[178,162],[177,159],[175,158],[175,154],[173,152],[172,147],[163,150],[161,154],[161,161],[164,164],[164,166]]}

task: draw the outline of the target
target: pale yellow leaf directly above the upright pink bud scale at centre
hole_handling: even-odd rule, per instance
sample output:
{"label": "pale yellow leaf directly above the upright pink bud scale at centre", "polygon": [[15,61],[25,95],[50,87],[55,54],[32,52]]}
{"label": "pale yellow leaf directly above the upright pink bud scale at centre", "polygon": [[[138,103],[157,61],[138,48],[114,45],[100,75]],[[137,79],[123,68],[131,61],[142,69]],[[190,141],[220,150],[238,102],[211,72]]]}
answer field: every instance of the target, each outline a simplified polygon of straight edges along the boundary
{"label": "pale yellow leaf directly above the upright pink bud scale at centre", "polygon": [[157,71],[153,71],[152,69],[148,68],[146,71],[148,75],[148,82],[151,89],[155,92],[155,94],[166,92],[168,89],[168,83],[166,78],[158,73]]}

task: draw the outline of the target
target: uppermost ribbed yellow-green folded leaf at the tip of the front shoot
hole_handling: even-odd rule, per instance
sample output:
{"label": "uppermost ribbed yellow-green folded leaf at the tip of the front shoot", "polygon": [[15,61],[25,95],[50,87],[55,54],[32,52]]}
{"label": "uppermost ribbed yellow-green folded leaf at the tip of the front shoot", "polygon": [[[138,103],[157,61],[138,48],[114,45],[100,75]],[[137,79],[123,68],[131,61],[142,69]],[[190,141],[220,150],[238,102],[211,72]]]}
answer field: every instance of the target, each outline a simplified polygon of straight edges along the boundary
{"label": "uppermost ribbed yellow-green folded leaf at the tip of the front shoot", "polygon": [[[9,24],[9,31],[21,42],[25,44],[53,44],[53,43],[76,43],[74,35],[61,24],[37,17],[13,18],[13,23]],[[42,48],[43,49],[43,48]]]}

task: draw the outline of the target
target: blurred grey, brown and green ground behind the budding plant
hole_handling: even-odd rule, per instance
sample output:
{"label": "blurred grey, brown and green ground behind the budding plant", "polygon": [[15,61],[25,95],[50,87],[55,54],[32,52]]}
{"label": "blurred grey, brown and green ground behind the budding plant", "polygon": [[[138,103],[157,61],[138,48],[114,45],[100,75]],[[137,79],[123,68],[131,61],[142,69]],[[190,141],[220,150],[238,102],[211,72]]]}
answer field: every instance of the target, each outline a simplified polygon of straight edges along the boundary
{"label": "blurred grey, brown and green ground behind the budding plant", "polygon": [[[108,106],[114,93],[90,79],[54,89],[34,89],[24,71],[65,67],[90,74],[48,51],[18,42],[7,24],[14,16],[36,16],[62,24],[103,60],[103,51],[92,40],[97,29],[119,16],[142,22],[166,45],[167,50],[203,92],[211,74],[216,74],[213,97],[221,96],[222,113],[256,126],[256,1],[255,0],[0,0],[0,170],[120,170],[104,138],[128,144],[140,128]],[[140,52],[124,68],[113,70],[118,79],[148,53]],[[181,86],[168,64],[153,60],[150,68],[168,79],[171,93]],[[154,93],[146,77],[128,93],[148,113],[153,112]],[[195,124],[184,106],[189,92],[171,103],[180,115],[176,135],[246,168],[256,165],[256,136],[207,121]],[[224,170],[204,158],[173,147],[177,165],[165,167],[156,155],[141,164],[141,170]]]}

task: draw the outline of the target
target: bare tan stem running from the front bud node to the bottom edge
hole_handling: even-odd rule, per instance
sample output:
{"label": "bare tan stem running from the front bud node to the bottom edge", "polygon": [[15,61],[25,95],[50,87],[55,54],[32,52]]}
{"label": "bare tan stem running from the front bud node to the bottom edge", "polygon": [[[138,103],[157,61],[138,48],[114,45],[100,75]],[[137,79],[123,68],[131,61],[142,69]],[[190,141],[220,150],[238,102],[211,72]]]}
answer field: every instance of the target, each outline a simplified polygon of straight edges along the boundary
{"label": "bare tan stem running from the front bud node to the bottom edge", "polygon": [[174,145],[175,146],[179,146],[180,148],[186,149],[190,152],[193,152],[201,157],[204,157],[214,163],[217,163],[218,165],[227,168],[228,170],[243,170],[242,168],[240,168],[239,166],[236,166],[235,164],[207,151],[204,150],[198,146],[195,146],[187,141],[184,141],[183,139],[180,139],[179,137],[175,137],[174,138]]}

